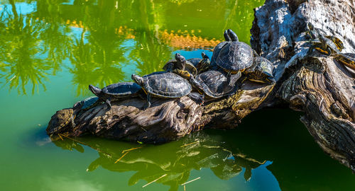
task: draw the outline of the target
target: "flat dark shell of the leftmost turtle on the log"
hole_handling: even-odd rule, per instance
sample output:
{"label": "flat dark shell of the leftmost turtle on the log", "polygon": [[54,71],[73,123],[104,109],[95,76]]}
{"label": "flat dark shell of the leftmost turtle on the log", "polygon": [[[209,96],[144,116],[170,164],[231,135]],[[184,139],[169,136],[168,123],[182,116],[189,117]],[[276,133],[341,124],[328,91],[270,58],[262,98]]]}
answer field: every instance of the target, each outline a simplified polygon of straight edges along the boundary
{"label": "flat dark shell of the leftmost turtle on the log", "polygon": [[102,93],[115,98],[127,98],[141,90],[141,86],[133,82],[113,83],[102,88]]}

